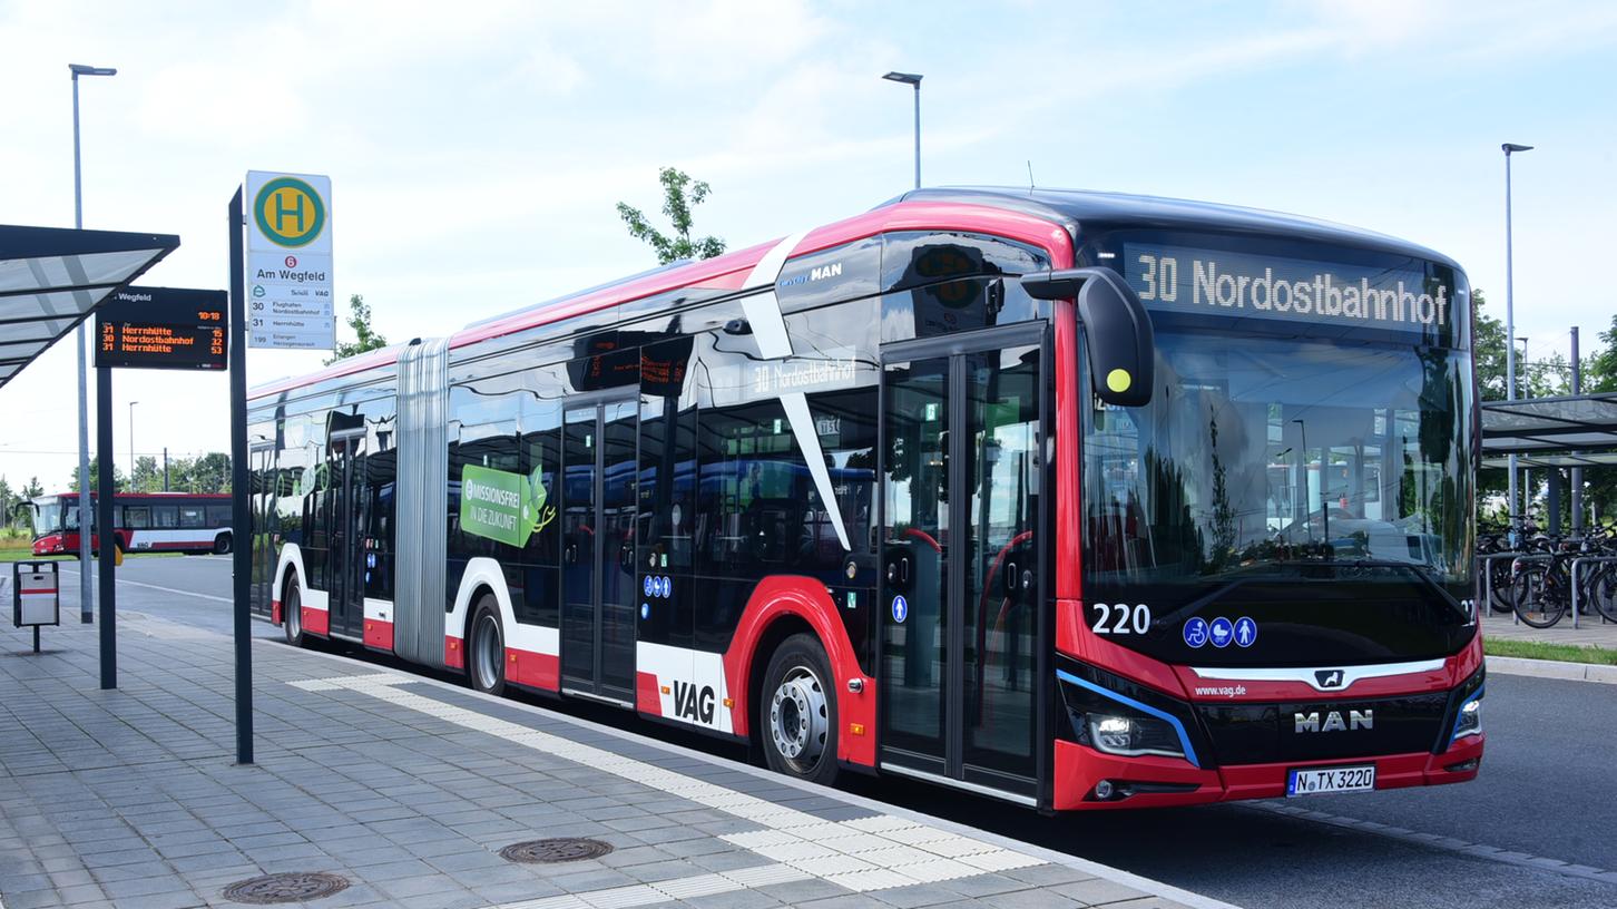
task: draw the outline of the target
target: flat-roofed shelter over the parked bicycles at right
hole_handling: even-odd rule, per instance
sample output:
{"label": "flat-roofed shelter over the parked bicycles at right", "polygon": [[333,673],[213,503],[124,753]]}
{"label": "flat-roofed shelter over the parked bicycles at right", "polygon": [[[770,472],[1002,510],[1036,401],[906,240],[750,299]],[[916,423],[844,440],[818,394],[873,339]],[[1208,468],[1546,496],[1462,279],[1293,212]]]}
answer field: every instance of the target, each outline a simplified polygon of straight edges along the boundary
{"label": "flat-roofed shelter over the parked bicycles at right", "polygon": [[[1481,467],[1551,471],[1551,532],[1559,527],[1560,471],[1572,471],[1572,531],[1583,529],[1581,471],[1617,466],[1617,393],[1484,401]],[[1522,484],[1526,488],[1526,484]],[[1517,503],[1512,503],[1517,511]]]}

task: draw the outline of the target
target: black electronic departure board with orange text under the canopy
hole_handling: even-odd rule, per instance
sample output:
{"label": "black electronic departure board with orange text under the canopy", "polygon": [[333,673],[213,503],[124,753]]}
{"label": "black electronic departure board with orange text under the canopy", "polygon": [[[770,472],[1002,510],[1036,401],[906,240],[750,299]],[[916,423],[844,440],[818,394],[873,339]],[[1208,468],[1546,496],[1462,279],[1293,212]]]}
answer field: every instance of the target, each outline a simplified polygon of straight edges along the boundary
{"label": "black electronic departure board with orange text under the canopy", "polygon": [[228,294],[123,288],[97,309],[95,366],[226,369]]}

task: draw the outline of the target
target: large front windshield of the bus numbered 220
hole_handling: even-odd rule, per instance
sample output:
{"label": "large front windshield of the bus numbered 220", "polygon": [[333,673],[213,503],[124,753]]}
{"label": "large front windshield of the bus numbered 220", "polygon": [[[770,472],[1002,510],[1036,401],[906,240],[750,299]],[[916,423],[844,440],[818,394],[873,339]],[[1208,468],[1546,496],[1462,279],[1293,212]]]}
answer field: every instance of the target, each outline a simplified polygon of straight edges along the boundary
{"label": "large front windshield of the bus numbered 220", "polygon": [[1087,587],[1187,608],[1357,563],[1470,597],[1467,351],[1182,330],[1156,346],[1151,403],[1088,416]]}

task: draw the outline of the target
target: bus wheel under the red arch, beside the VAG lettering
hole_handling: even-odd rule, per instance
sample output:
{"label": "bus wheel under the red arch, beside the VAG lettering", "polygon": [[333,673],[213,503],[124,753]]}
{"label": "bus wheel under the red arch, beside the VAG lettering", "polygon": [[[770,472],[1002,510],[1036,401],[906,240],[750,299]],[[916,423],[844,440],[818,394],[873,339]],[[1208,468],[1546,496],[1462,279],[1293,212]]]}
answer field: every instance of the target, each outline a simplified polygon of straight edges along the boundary
{"label": "bus wheel under the red arch, beside the VAG lettering", "polygon": [[758,741],[770,770],[830,786],[836,781],[836,687],[812,634],[781,642],[763,671]]}

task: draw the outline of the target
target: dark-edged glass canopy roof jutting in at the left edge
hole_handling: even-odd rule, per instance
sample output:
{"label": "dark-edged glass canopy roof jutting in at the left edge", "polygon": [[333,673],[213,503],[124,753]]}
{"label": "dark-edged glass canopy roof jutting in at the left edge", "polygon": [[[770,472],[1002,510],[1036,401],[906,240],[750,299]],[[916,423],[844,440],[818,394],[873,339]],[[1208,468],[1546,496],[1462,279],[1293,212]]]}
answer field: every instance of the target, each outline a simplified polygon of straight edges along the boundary
{"label": "dark-edged glass canopy roof jutting in at the left edge", "polygon": [[158,233],[0,225],[0,388],[178,246]]}

